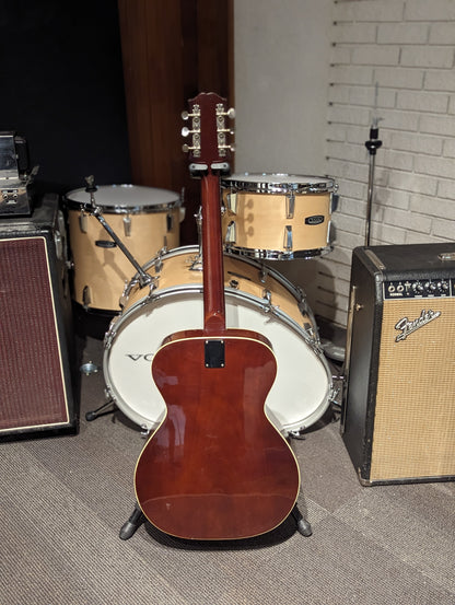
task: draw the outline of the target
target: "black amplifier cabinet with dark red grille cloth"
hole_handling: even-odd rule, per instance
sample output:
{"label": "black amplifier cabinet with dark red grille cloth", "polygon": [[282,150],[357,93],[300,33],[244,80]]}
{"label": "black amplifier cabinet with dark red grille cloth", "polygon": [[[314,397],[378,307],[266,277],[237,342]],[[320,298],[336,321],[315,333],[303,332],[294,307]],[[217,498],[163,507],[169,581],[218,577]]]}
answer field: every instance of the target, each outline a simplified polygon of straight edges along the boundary
{"label": "black amplifier cabinet with dark red grille cloth", "polygon": [[0,220],[0,440],[74,433],[71,299],[58,197]]}

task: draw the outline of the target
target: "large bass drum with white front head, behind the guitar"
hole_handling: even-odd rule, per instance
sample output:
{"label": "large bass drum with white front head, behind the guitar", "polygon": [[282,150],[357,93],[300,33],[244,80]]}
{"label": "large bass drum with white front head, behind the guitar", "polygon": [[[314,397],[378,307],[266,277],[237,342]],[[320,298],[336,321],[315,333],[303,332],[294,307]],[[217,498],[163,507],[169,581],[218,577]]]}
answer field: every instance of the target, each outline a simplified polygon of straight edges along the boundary
{"label": "large bass drum with white front head, behind the guitar", "polygon": [[[103,371],[120,410],[147,430],[156,429],[165,404],[151,374],[153,354],[168,335],[202,328],[202,270],[197,246],[177,248],[147,265],[151,287],[132,279],[122,313],[105,337]],[[267,416],[284,434],[318,420],[331,395],[331,374],[303,293],[257,261],[224,255],[226,325],[266,336],[278,373]]]}

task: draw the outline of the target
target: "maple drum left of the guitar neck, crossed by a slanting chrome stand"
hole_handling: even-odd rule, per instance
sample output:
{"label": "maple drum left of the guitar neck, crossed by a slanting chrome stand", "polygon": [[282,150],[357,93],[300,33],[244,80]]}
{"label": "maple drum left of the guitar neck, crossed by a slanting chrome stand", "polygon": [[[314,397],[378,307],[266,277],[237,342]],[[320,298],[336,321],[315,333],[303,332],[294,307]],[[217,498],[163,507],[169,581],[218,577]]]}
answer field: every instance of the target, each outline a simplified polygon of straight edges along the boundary
{"label": "maple drum left of the guitar neck, crossed by a slanting chrome stand", "polygon": [[[68,207],[73,261],[73,298],[85,310],[119,312],[118,301],[136,269],[97,219],[84,209],[85,189],[70,191]],[[107,224],[139,263],[179,244],[183,208],[178,194],[139,185],[105,185],[95,203]]]}

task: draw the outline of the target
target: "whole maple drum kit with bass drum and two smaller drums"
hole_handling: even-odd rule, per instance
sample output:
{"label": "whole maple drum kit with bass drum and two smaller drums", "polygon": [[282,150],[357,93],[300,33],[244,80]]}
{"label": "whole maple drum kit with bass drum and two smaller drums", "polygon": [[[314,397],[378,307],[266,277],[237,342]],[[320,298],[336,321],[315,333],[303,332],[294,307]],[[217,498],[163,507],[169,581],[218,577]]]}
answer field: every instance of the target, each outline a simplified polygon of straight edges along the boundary
{"label": "whole maple drum kit with bass drum and two smaller drums", "polygon": [[[165,416],[150,371],[154,353],[168,334],[202,326],[200,244],[178,247],[178,194],[95,187],[93,177],[88,185],[63,199],[73,300],[83,312],[112,316],[103,357],[108,402],[88,419],[115,404],[145,437]],[[226,323],[271,342],[278,373],[266,408],[284,437],[301,437],[324,416],[334,385],[303,290],[264,260],[327,254],[335,191],[331,179],[304,175],[221,179]]]}

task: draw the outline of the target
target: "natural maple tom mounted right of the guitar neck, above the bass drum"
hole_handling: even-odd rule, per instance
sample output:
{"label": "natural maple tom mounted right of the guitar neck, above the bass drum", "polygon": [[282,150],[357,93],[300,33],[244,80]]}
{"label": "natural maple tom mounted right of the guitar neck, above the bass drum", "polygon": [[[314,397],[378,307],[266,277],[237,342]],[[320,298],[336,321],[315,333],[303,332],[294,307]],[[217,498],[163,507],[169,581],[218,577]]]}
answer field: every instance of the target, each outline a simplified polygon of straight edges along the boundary
{"label": "natural maple tom mounted right of the guitar neck, above the bass drum", "polygon": [[238,174],[221,182],[226,249],[252,258],[312,258],[330,252],[334,181]]}

